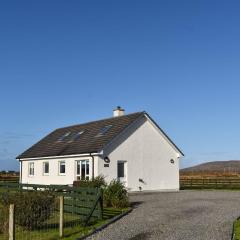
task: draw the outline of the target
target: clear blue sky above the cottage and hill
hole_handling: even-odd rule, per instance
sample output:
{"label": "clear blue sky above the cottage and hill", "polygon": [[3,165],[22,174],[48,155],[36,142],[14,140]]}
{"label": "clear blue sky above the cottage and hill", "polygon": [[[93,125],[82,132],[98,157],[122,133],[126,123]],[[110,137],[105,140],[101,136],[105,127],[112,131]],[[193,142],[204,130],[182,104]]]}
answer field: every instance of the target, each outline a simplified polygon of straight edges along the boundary
{"label": "clear blue sky above the cottage and hill", "polygon": [[181,166],[240,159],[239,1],[1,1],[0,169],[55,128],[146,110]]}

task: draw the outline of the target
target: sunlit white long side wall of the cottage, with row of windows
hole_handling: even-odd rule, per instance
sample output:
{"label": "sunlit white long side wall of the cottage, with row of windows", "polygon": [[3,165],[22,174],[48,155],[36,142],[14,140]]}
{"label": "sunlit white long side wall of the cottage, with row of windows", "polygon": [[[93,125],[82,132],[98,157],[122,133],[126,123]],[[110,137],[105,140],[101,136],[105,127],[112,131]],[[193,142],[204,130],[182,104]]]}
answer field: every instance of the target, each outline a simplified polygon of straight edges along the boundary
{"label": "sunlit white long side wall of the cottage, with row of windows", "polygon": [[[96,157],[95,157],[96,158]],[[22,161],[22,183],[29,184],[73,184],[76,180],[76,161],[77,160],[89,160],[90,178],[92,177],[92,157],[66,157],[66,158],[51,158],[51,159],[37,159],[37,160],[25,160]],[[49,162],[49,175],[43,175],[43,162]],[[66,162],[66,174],[59,175],[59,161]],[[34,162],[34,176],[28,175],[28,163]],[[97,161],[94,160],[96,163]],[[95,171],[97,171],[97,163],[94,165]]]}

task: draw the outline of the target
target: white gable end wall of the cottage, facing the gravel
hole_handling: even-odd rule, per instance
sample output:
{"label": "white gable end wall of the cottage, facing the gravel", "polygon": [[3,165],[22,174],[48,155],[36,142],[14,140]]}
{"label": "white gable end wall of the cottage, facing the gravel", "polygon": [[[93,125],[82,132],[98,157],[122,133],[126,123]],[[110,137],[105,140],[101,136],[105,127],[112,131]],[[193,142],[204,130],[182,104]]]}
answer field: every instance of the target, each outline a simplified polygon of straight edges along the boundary
{"label": "white gable end wall of the cottage, facing the gravel", "polygon": [[[117,161],[123,160],[127,161],[127,187],[130,191],[139,191],[139,186],[142,190],[179,189],[179,153],[146,118],[109,146],[104,154],[111,162],[107,168],[99,158],[98,172],[103,173],[108,182],[117,177]],[[170,163],[171,159],[174,164]]]}

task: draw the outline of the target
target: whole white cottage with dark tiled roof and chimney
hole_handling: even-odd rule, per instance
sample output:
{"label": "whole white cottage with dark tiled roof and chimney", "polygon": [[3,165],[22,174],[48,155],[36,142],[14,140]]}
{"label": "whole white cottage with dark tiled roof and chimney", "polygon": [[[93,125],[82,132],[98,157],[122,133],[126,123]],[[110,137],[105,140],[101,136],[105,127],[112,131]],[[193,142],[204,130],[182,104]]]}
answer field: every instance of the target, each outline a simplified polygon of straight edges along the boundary
{"label": "whole white cottage with dark tiled roof and chimney", "polygon": [[17,159],[20,181],[68,184],[104,175],[129,191],[178,190],[183,153],[146,112],[59,128]]}

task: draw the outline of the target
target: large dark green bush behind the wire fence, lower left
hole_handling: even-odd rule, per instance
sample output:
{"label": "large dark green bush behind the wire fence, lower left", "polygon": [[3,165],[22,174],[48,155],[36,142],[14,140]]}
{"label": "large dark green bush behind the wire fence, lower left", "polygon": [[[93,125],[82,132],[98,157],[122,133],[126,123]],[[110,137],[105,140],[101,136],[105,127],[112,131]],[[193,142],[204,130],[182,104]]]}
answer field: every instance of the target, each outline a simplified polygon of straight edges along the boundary
{"label": "large dark green bush behind the wire fence, lower left", "polygon": [[55,197],[47,191],[17,192],[5,194],[1,202],[8,209],[15,205],[16,224],[31,230],[39,228],[54,210]]}

